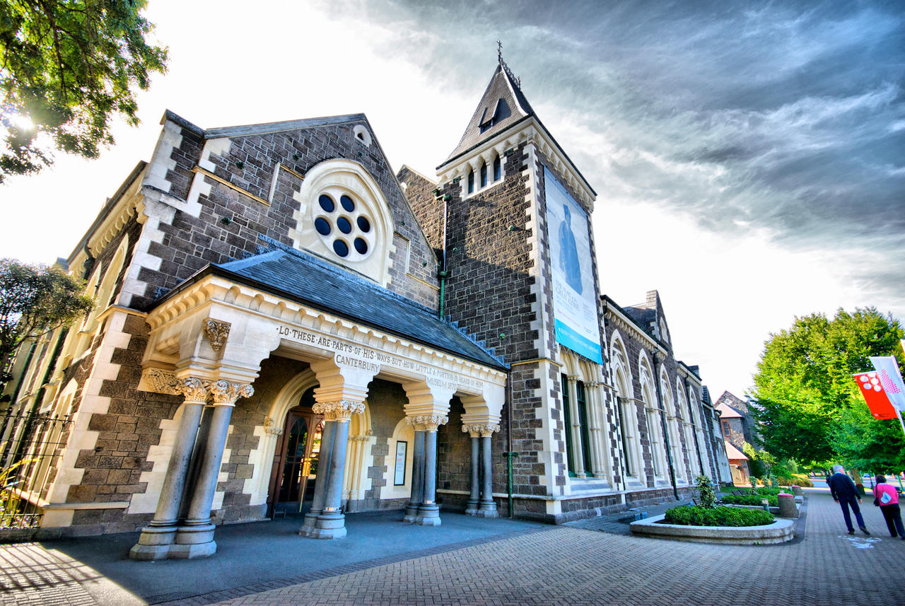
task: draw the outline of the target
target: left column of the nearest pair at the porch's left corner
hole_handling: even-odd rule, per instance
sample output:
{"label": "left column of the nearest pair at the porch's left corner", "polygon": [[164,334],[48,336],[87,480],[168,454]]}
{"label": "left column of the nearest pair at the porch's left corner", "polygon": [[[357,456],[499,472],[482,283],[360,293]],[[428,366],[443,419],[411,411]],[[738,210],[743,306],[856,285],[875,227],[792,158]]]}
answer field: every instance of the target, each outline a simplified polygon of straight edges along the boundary
{"label": "left column of the nearest pair at the porch's left corner", "polygon": [[176,442],[173,452],[170,454],[167,476],[164,478],[163,488],[160,489],[160,498],[157,501],[157,511],[154,519],[148,526],[141,530],[138,544],[135,544],[129,557],[133,560],[162,560],[167,558],[170,545],[176,540],[176,523],[179,516],[179,505],[182,502],[182,494],[186,486],[186,474],[192,450],[195,448],[195,438],[198,434],[198,422],[204,411],[207,401],[209,381],[202,381],[195,377],[176,379],[165,373],[151,374],[161,381],[167,381],[167,385],[158,384],[157,391],[163,393],[182,393],[186,398],[183,403],[182,418],[176,431]]}

